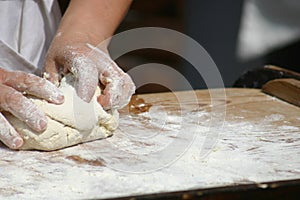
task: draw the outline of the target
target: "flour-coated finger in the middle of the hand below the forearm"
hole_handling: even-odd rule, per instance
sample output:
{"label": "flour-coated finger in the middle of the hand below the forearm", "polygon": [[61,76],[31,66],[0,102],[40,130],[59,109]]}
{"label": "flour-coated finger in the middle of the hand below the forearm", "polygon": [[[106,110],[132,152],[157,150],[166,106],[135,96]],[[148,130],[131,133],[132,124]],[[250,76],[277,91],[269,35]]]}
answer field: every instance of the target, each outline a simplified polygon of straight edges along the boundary
{"label": "flour-coated finger in the middle of the hand below the forearm", "polygon": [[93,61],[85,56],[73,59],[70,71],[76,77],[77,95],[85,102],[90,102],[98,85],[98,70]]}

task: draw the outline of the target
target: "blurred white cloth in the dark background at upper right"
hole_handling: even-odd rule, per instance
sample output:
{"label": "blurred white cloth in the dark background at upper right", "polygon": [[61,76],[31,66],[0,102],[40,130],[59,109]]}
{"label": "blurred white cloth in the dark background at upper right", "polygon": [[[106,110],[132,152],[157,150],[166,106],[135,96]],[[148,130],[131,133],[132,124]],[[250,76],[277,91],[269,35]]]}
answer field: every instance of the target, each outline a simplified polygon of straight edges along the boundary
{"label": "blurred white cloth in the dark background at upper right", "polygon": [[300,39],[299,0],[246,0],[237,54],[251,59]]}

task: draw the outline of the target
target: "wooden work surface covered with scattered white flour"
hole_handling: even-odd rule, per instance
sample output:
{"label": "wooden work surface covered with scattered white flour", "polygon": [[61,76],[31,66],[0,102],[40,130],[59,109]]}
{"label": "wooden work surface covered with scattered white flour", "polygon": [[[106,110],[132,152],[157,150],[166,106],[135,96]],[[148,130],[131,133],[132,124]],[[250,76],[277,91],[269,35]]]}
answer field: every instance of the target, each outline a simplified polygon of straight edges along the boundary
{"label": "wooden work surface covered with scattered white flour", "polygon": [[300,178],[300,108],[254,89],[227,89],[213,106],[207,90],[194,94],[139,95],[106,140],[54,152],[0,146],[0,197],[108,198]]}

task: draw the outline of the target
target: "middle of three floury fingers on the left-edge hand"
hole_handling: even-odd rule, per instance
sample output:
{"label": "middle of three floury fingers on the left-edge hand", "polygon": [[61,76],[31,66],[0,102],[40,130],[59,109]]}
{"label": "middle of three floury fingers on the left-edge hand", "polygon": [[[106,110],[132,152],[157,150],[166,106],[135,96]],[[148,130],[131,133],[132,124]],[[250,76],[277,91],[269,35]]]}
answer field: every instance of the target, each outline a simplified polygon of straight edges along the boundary
{"label": "middle of three floury fingers on the left-edge hand", "polygon": [[45,113],[39,110],[31,100],[6,85],[0,85],[0,91],[0,107],[3,110],[24,121],[37,132],[46,129],[48,120]]}

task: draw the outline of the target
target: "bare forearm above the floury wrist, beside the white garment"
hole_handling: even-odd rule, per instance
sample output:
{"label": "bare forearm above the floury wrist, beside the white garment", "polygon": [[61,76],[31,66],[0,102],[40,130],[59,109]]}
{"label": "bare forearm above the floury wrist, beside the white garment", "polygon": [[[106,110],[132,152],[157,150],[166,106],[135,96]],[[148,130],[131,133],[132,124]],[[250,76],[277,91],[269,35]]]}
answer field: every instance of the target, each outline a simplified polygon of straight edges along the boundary
{"label": "bare forearm above the floury wrist, beside the white garment", "polygon": [[[111,37],[124,18],[132,0],[71,0],[58,32],[82,34],[97,46]],[[81,36],[79,36],[81,37]]]}

